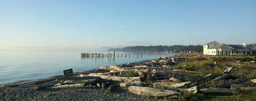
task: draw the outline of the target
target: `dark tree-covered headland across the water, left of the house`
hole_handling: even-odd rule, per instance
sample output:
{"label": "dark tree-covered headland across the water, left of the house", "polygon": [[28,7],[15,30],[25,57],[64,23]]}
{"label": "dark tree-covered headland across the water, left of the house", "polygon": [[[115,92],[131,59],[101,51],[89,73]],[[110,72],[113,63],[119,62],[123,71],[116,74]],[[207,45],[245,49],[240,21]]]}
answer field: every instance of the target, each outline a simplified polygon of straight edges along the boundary
{"label": "dark tree-covered headland across the water, left of the house", "polygon": [[128,46],[125,48],[110,48],[108,51],[121,52],[166,52],[166,51],[203,51],[203,45],[156,45],[156,46]]}

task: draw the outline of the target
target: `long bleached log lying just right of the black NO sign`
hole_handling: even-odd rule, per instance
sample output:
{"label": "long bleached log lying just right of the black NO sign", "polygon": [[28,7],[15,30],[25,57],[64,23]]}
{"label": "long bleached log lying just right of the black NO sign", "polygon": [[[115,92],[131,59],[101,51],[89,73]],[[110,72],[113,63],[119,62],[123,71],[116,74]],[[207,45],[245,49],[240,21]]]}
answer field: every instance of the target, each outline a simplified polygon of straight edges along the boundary
{"label": "long bleached log lying just right of the black NO sign", "polygon": [[125,82],[140,81],[140,77],[105,76],[105,75],[101,75],[99,73],[90,73],[89,76],[100,77],[102,79],[110,79],[113,81],[125,81]]}

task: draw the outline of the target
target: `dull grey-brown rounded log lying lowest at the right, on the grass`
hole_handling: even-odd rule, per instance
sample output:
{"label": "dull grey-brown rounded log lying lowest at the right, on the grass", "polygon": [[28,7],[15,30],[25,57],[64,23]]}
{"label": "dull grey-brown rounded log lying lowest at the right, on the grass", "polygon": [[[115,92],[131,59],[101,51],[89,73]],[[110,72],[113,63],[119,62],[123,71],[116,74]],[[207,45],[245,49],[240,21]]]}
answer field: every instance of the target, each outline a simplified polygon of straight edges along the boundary
{"label": "dull grey-brown rounded log lying lowest at the right, on the grass", "polygon": [[229,88],[218,88],[218,87],[203,88],[203,89],[200,89],[199,91],[203,93],[238,94],[236,90],[229,89]]}

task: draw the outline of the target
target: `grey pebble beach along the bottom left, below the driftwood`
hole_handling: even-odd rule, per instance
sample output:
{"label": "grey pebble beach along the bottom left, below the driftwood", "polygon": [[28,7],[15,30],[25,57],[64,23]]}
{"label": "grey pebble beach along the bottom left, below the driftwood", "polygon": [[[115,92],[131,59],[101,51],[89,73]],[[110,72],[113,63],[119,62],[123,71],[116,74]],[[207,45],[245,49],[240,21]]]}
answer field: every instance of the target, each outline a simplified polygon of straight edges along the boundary
{"label": "grey pebble beach along the bottom left, below the driftwood", "polygon": [[62,89],[31,90],[20,87],[0,87],[1,101],[162,101],[161,99],[134,95],[127,92],[109,93],[105,90]]}

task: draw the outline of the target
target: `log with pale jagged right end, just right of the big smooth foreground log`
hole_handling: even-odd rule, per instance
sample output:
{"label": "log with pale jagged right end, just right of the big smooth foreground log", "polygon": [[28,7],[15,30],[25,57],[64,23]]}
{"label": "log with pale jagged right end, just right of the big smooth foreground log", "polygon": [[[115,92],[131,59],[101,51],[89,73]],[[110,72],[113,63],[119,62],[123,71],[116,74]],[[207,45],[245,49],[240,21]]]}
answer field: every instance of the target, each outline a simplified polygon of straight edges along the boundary
{"label": "log with pale jagged right end, just right of the big smooth foreground log", "polygon": [[184,91],[188,91],[190,93],[198,93],[198,87],[191,87],[191,88],[175,88],[175,87],[164,87],[165,90],[174,90],[174,91],[178,91],[178,92],[184,92]]}

